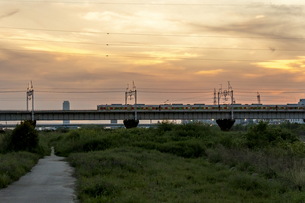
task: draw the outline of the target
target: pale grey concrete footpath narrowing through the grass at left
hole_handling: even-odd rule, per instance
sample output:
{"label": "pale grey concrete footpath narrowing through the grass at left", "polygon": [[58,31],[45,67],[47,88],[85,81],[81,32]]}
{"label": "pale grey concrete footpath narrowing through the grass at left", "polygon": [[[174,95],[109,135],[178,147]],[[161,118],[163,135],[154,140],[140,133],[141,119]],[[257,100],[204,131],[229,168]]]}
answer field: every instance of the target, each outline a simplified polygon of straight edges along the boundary
{"label": "pale grey concrete footpath narrowing through the grass at left", "polygon": [[54,155],[40,159],[31,172],[0,190],[0,203],[73,203],[75,178],[73,168],[63,157]]}

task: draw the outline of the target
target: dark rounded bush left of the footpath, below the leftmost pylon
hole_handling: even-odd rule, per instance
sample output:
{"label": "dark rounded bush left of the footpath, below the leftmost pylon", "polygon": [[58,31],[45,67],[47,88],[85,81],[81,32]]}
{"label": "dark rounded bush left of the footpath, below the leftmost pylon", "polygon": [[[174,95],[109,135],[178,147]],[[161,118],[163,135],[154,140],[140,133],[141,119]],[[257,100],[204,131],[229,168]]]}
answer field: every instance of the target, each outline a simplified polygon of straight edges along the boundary
{"label": "dark rounded bush left of the footpath, below the leftmost pylon", "polygon": [[12,131],[11,148],[14,151],[39,151],[38,131],[28,121],[21,121]]}

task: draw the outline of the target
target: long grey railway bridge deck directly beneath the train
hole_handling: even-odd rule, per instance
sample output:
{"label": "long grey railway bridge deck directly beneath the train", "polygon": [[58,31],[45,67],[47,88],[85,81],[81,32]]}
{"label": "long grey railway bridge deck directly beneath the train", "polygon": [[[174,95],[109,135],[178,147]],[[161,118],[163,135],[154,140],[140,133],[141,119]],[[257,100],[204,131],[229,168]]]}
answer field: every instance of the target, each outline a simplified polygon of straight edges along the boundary
{"label": "long grey railway bridge deck directly beneath the train", "polygon": [[[95,109],[34,110],[34,120],[126,120],[134,119],[134,112],[100,112]],[[229,111],[137,111],[139,120],[163,119],[230,119]],[[0,121],[31,120],[30,110],[0,110]],[[305,111],[240,111],[234,110],[234,119],[305,119]]]}

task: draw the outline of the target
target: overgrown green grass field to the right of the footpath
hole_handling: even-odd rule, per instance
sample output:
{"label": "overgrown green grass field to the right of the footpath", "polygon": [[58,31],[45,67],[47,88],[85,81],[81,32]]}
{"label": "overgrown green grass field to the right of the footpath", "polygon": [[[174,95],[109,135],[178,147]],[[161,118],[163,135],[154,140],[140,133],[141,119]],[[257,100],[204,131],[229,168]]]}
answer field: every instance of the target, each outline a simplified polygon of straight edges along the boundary
{"label": "overgrown green grass field to the right of the footpath", "polygon": [[75,167],[81,202],[305,202],[303,126],[164,122],[49,133]]}

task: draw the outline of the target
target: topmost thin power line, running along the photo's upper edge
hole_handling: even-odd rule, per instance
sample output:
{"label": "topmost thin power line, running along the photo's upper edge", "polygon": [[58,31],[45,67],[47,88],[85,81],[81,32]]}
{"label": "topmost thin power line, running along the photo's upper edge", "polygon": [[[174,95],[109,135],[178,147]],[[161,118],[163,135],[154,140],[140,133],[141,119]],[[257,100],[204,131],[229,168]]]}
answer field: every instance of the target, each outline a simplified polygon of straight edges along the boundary
{"label": "topmost thin power line, running along the photo's upper edge", "polygon": [[23,1],[23,0],[0,0],[2,2],[42,2],[42,3],[77,3],[77,4],[123,4],[123,5],[202,5],[202,6],[304,6],[284,4],[157,4],[157,3],[104,3],[104,2],[54,2],[54,1]]}

